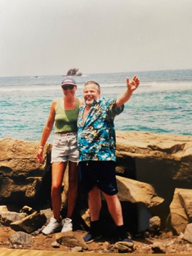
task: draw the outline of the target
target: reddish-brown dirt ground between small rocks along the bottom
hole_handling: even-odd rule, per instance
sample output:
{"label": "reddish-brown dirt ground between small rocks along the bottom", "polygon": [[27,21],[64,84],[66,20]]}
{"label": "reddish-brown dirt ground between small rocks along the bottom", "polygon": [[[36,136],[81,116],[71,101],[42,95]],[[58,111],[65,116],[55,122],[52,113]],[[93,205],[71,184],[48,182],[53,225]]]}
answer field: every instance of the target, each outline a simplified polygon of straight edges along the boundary
{"label": "reddish-brown dirt ground between small rocks along the bottom", "polygon": [[[0,248],[1,249],[27,249],[27,250],[47,250],[57,252],[74,252],[75,247],[66,247],[60,245],[58,248],[52,247],[52,243],[56,240],[55,234],[33,235],[34,243],[31,245],[12,245],[9,241],[9,236],[14,234],[14,230],[11,227],[0,227]],[[75,235],[83,237],[85,231],[75,231]],[[134,250],[131,254],[152,254],[154,253],[152,245],[158,243],[163,248],[165,254],[188,254],[192,255],[192,244],[181,239],[181,237],[173,236],[170,232],[163,233],[161,235],[144,238],[138,238],[134,240]],[[114,243],[110,240],[100,240],[99,242],[92,242],[88,244],[88,249],[81,250],[81,252],[93,252],[93,253],[118,253],[117,249],[114,248]],[[160,253],[158,250],[155,253]]]}

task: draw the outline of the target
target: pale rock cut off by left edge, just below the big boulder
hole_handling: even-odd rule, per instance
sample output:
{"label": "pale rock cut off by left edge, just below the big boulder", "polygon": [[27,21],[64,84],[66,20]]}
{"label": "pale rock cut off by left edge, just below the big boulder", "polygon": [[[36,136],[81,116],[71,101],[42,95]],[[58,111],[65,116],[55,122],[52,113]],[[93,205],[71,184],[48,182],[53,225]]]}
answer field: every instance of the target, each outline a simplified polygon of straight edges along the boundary
{"label": "pale rock cut off by left edge, just below the big boulder", "polygon": [[14,211],[2,211],[0,212],[0,222],[4,226],[10,226],[11,222],[19,221],[26,217],[26,213],[16,213]]}

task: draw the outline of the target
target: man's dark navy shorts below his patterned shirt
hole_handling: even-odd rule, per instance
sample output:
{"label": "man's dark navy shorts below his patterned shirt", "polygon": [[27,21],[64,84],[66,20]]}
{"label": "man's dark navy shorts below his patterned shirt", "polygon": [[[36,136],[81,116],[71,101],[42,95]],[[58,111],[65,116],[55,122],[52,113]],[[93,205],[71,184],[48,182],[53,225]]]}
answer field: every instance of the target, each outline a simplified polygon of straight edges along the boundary
{"label": "man's dark navy shorts below his patterned shirt", "polygon": [[79,163],[80,182],[86,192],[98,186],[106,194],[118,193],[116,181],[116,162],[114,161],[83,161]]}

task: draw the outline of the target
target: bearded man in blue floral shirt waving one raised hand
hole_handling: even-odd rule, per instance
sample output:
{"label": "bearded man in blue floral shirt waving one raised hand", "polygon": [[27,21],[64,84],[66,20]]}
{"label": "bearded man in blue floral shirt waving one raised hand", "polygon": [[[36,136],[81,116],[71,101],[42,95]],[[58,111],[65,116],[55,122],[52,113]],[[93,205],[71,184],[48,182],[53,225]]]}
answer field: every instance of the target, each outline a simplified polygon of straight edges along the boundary
{"label": "bearded man in blue floral shirt waving one raised hand", "polygon": [[117,99],[101,97],[98,83],[89,81],[83,93],[85,104],[78,117],[78,148],[80,150],[80,180],[88,192],[91,227],[85,242],[101,236],[99,213],[101,211],[101,191],[107,208],[116,224],[117,239],[127,240],[122,208],[117,197],[116,184],[116,134],[114,117],[120,114],[132,93],[139,86],[139,78],[127,78],[127,88]]}

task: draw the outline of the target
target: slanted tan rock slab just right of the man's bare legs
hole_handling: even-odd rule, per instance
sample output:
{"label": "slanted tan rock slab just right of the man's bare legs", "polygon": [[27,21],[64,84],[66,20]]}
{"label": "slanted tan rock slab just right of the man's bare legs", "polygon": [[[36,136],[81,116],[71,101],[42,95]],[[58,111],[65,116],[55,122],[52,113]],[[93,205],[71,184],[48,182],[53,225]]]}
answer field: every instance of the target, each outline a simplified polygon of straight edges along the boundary
{"label": "slanted tan rock slab just right of the man's bare legs", "polygon": [[119,199],[131,203],[144,203],[147,207],[162,204],[164,199],[157,196],[153,187],[147,183],[116,176]]}

